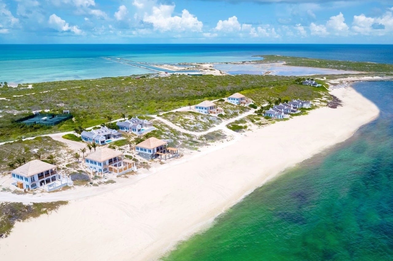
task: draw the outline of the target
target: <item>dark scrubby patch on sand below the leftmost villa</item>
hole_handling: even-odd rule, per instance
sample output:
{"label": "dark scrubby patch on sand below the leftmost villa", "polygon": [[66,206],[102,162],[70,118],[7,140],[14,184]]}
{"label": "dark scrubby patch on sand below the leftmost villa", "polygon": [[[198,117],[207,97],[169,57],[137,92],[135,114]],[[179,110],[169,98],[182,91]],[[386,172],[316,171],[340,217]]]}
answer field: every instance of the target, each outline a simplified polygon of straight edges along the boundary
{"label": "dark scrubby patch on sand below the leftmost villa", "polygon": [[31,217],[39,217],[42,214],[49,214],[67,203],[67,201],[33,203],[31,205],[9,202],[0,203],[0,237],[8,236],[15,222],[24,221]]}

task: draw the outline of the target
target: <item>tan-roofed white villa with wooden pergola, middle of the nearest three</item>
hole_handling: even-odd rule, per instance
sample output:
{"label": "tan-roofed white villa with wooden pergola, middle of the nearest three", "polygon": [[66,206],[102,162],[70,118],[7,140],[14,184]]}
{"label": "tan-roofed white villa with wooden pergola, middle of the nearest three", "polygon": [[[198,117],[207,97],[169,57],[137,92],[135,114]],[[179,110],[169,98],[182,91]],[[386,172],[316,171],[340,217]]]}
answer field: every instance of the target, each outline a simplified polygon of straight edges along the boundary
{"label": "tan-roofed white villa with wooden pergola, middle of the nearest three", "polygon": [[84,163],[89,170],[94,170],[99,174],[113,172],[119,175],[136,170],[134,161],[124,159],[122,152],[108,148],[97,149],[96,152],[84,158]]}

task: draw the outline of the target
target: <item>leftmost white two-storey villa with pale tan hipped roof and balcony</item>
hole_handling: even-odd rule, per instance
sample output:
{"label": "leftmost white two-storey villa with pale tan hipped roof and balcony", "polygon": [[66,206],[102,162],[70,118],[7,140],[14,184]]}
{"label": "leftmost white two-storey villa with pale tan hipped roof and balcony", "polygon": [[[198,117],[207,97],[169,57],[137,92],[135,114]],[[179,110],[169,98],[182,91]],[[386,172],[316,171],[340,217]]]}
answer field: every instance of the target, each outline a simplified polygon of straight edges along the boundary
{"label": "leftmost white two-storey villa with pale tan hipped roof and balcony", "polygon": [[34,159],[11,171],[18,188],[33,189],[60,179],[57,166]]}

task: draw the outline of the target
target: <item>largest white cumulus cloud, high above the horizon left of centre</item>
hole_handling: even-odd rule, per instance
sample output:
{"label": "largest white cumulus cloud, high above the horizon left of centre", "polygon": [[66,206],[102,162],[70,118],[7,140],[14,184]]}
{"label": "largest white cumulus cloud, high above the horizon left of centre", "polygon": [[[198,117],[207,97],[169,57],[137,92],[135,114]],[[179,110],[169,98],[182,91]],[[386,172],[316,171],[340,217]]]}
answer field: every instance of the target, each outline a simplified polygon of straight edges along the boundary
{"label": "largest white cumulus cloud, high above the horizon left of centre", "polygon": [[172,16],[175,5],[159,5],[152,7],[152,13],[143,16],[143,22],[153,25],[155,30],[165,31],[202,31],[203,23],[190,14],[187,9],[182,11],[182,16]]}

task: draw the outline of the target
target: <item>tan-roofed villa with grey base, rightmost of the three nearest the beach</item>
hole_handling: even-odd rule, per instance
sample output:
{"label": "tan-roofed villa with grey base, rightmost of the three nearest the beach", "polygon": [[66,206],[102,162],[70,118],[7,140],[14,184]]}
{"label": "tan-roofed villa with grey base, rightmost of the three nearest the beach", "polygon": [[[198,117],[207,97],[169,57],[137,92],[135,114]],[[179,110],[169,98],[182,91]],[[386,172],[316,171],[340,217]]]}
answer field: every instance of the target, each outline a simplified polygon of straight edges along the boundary
{"label": "tan-roofed villa with grey base, rightmost of the three nearest the beach", "polygon": [[167,142],[151,137],[135,146],[135,151],[145,159],[164,159],[178,156],[178,149],[167,147]]}

